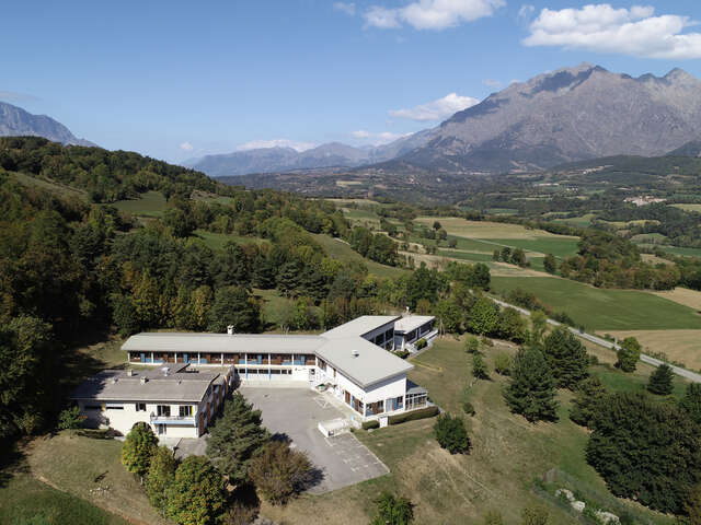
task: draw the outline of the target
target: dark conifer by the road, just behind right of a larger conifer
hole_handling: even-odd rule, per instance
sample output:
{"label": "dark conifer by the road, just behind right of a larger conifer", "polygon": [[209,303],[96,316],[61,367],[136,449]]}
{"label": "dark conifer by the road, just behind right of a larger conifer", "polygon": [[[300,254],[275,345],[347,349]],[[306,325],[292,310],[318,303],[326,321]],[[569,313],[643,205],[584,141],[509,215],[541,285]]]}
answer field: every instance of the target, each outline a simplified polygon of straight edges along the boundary
{"label": "dark conifer by the road, just behind right of a larger conifer", "polygon": [[543,340],[543,349],[558,386],[574,388],[588,375],[589,357],[579,339],[559,326]]}

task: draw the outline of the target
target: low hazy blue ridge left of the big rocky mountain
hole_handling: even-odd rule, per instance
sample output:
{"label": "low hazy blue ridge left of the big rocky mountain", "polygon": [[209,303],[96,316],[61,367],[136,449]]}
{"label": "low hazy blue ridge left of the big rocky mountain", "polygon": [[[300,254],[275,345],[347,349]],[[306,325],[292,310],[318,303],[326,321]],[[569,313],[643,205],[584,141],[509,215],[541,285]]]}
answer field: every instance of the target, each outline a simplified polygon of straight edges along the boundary
{"label": "low hazy blue ridge left of the big rocky mountain", "polygon": [[426,138],[426,131],[420,131],[389,144],[378,147],[356,148],[341,142],[329,142],[306,151],[279,147],[260,148],[219,155],[206,155],[186,161],[183,164],[204,172],[210,177],[297,170],[355,167],[394,159],[423,145]]}

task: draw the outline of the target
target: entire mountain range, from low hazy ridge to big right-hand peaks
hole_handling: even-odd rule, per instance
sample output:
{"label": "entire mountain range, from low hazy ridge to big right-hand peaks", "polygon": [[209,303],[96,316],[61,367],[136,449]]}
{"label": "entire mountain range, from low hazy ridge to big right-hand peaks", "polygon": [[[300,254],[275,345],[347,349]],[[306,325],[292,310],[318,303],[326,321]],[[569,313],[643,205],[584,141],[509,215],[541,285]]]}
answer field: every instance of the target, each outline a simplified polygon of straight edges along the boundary
{"label": "entire mountain range, from low hazy ridge to big right-hand peaks", "polygon": [[663,155],[701,137],[701,81],[680,69],[633,78],[582,63],[515,82],[439,126],[376,148],[337,142],[209,155],[210,176],[355,168],[474,174],[540,171],[611,155]]}

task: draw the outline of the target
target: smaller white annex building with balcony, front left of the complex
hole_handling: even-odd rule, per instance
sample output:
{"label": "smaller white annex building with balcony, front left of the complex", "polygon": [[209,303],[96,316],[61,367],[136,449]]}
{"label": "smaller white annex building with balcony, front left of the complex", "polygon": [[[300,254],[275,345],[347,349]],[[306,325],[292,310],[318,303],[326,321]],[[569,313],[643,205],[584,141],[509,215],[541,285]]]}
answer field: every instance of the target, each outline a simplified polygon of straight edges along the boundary
{"label": "smaller white annex building with balcony, front left of the complex", "polygon": [[231,368],[106,370],[80,385],[71,399],[90,427],[108,427],[126,435],[142,421],[159,436],[198,438],[233,383]]}

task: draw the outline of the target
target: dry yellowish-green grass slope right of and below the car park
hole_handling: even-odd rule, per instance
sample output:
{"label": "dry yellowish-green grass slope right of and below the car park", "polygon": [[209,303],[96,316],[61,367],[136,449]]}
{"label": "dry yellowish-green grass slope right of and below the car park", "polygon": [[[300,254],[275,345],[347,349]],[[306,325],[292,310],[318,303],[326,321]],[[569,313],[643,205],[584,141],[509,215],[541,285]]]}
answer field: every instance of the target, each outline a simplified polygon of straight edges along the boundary
{"label": "dry yellowish-green grass slope right of and below the car park", "polygon": [[[515,351],[515,346],[496,341],[493,348],[484,350],[489,369],[493,371],[497,353]],[[589,351],[602,363],[590,372],[611,389],[642,389],[653,370],[641,364],[635,373],[623,374],[611,365],[613,352],[599,347]],[[476,415],[464,418],[472,441],[471,453],[451,456],[441,450],[433,438],[433,419],[374,432],[358,431],[356,436],[390,467],[389,475],[324,495],[303,495],[287,508],[264,504],[263,515],[290,525],[306,525],[312,515],[326,515],[330,522],[341,525],[360,525],[368,522],[377,494],[390,490],[411,499],[415,504],[415,522],[422,525],[481,523],[490,509],[498,510],[505,523],[520,523],[520,511],[533,504],[548,508],[550,523],[578,523],[530,490],[533,480],[553,467],[575,478],[581,490],[600,494],[601,501],[611,499],[601,478],[585,462],[588,433],[568,420],[571,393],[559,394],[556,423],[530,424],[507,409],[502,397],[504,377],[491,372],[490,381],[472,380],[471,355],[464,352],[462,338],[444,337],[412,362],[415,369],[410,378],[425,386],[430,399],[451,413],[463,413],[460,393],[466,384],[473,383],[471,400]],[[675,386],[678,396],[685,384],[676,380]],[[504,498],[505,493],[509,497]],[[632,502],[616,501],[656,524],[673,523]]]}

